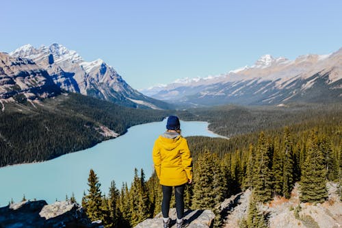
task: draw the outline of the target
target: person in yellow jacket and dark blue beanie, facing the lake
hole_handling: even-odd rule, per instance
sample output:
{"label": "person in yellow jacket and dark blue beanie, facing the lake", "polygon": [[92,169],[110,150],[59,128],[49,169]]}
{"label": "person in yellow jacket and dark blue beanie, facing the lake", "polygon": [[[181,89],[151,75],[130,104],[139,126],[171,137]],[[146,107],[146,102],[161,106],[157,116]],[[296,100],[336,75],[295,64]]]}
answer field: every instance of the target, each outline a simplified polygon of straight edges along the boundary
{"label": "person in yellow jacket and dark blue beanie, facing the lake", "polygon": [[155,140],[153,163],[163,190],[161,212],[163,227],[170,227],[170,199],[174,188],[176,199],[176,227],[181,228],[184,216],[184,190],[192,183],[192,156],[187,140],[181,136],[181,124],[177,116],[169,116],[166,132]]}

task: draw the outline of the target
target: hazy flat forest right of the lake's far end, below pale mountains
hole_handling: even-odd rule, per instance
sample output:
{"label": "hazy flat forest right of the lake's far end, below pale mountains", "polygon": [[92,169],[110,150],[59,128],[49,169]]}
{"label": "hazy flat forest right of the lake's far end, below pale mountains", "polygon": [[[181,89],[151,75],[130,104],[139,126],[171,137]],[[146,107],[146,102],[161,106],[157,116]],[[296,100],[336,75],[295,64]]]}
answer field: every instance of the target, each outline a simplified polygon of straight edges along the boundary
{"label": "hazy flat forest right of the lake's far end, below pale mountains", "polygon": [[[207,121],[216,134],[231,138],[342,115],[341,103],[291,103],[284,106],[220,105],[180,112],[187,121]],[[321,117],[321,118],[319,118]]]}

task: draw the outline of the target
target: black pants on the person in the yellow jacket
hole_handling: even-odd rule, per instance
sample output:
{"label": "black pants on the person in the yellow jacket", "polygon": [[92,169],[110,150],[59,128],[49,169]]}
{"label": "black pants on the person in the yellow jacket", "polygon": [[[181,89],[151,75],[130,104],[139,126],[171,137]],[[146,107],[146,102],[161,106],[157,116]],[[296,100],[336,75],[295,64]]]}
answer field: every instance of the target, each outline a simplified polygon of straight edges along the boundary
{"label": "black pants on the person in the yellow jacket", "polygon": [[[163,188],[163,201],[161,203],[161,212],[164,218],[168,218],[170,210],[170,200],[172,194],[172,186],[161,186]],[[184,216],[184,189],[185,184],[181,186],[174,186],[174,193],[176,199],[177,218],[181,219]]]}

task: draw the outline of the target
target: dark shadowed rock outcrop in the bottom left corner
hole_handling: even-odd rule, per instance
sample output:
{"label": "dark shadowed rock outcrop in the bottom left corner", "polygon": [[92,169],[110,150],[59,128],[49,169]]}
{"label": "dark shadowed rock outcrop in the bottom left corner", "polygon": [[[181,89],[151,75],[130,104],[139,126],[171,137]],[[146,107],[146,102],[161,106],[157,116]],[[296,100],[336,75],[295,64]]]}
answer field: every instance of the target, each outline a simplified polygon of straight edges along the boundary
{"label": "dark shadowed rock outcrop in the bottom left corner", "polygon": [[101,227],[92,223],[77,203],[23,201],[0,208],[0,227]]}

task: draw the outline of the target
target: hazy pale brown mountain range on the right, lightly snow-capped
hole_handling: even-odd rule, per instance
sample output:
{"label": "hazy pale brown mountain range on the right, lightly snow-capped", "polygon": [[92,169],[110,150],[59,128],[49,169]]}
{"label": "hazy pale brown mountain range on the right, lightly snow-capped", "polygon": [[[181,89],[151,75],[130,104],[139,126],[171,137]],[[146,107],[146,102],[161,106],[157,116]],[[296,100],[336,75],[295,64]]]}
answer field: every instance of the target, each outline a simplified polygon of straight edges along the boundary
{"label": "hazy pale brown mountain range on the right, lightly snow-capped", "polygon": [[187,105],[280,105],[326,103],[342,99],[342,49],[295,60],[263,55],[253,66],[224,75],[178,79],[140,92]]}

